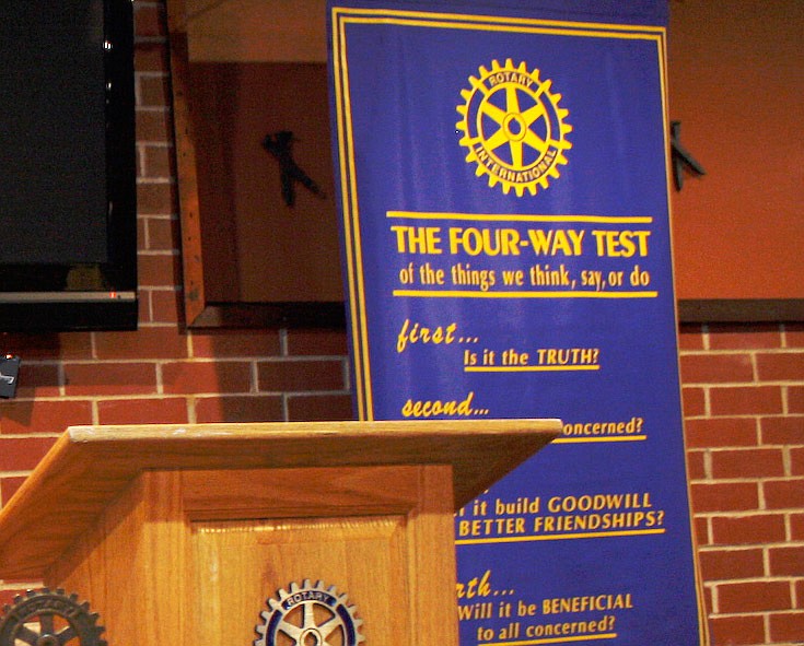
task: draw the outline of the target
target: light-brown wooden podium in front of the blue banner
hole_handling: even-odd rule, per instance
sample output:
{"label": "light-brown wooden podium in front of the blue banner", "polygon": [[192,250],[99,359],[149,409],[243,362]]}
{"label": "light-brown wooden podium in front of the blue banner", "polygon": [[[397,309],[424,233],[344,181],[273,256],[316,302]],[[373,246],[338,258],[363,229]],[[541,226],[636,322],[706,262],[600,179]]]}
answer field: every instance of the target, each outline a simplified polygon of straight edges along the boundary
{"label": "light-brown wooden podium in front of the blue banner", "polygon": [[453,514],[560,428],[71,427],[0,512],[0,578],[89,600],[109,646],[249,646],[299,586],[334,586],[365,646],[456,646]]}

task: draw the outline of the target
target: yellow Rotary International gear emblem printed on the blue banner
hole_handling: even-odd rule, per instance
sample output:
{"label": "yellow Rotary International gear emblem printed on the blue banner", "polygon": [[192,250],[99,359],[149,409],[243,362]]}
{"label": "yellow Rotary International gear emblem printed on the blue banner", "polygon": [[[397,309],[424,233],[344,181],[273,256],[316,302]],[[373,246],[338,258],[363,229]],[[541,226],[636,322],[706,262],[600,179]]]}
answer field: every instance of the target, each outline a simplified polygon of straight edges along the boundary
{"label": "yellow Rotary International gear emblem printed on the blue banner", "polygon": [[489,186],[499,184],[505,195],[513,188],[517,197],[525,189],[535,196],[567,164],[570,113],[559,106],[561,95],[550,92],[552,82],[541,81],[539,70],[528,71],[524,62],[494,60],[491,70],[481,66],[457,106],[455,127],[469,151],[466,162],[477,164],[475,175],[488,175]]}

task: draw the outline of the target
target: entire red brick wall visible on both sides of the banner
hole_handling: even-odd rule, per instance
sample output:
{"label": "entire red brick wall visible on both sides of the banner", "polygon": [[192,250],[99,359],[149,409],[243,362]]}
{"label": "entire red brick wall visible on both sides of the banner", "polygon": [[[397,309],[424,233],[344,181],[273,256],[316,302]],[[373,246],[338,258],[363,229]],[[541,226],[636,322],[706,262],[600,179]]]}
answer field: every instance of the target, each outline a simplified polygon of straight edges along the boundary
{"label": "entire red brick wall visible on both sides of the banner", "polygon": [[[0,336],[0,504],[72,424],[348,419],[346,340],[187,331],[162,1],[138,0],[140,329]],[[692,506],[714,645],[804,639],[804,326],[686,326]],[[37,582],[30,582],[32,586]],[[22,587],[2,585],[0,606]]]}

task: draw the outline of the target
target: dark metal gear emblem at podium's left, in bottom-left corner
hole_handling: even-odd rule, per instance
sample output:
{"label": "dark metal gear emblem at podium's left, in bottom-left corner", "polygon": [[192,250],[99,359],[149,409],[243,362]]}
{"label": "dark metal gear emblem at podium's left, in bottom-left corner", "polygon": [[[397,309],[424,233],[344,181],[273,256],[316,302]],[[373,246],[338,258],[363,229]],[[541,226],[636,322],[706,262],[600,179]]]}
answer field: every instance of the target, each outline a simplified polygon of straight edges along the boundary
{"label": "dark metal gear emblem at podium's left, in bottom-left corner", "polygon": [[0,646],[106,646],[97,613],[63,590],[28,590],[0,616]]}

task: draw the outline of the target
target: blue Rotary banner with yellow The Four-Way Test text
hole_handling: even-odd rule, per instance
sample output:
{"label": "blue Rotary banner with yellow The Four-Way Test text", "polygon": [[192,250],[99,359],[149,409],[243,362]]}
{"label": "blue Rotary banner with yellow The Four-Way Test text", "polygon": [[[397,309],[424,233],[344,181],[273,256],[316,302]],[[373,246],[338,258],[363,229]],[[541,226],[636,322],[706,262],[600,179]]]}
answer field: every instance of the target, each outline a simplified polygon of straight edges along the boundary
{"label": "blue Rotary banner with yellow The Four-Way Test text", "polygon": [[703,644],[665,2],[328,16],[359,418],[564,424],[455,517],[462,644]]}

